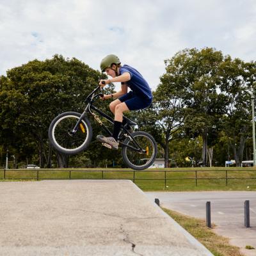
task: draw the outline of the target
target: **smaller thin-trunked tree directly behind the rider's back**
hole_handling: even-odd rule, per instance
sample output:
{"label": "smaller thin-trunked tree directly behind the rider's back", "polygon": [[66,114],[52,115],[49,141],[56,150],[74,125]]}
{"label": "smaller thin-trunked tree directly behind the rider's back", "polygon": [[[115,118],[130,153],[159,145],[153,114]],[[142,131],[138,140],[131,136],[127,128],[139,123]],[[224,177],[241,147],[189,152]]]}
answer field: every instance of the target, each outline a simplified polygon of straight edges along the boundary
{"label": "smaller thin-trunked tree directly behind the rider's back", "polygon": [[169,145],[184,121],[184,103],[182,90],[177,89],[176,78],[166,72],[153,93],[154,100],[150,108],[134,113],[140,129],[152,134],[164,150],[164,167],[169,167]]}

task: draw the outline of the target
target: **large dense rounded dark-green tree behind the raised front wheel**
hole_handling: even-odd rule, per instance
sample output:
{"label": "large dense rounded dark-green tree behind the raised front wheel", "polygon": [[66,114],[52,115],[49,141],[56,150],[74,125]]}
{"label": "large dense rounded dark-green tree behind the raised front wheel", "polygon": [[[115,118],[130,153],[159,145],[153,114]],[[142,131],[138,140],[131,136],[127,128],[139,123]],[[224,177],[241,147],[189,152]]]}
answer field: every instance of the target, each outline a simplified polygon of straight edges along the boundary
{"label": "large dense rounded dark-green tree behind the raised front wheel", "polygon": [[[29,144],[35,142],[40,166],[45,166],[51,159],[47,156],[51,154],[47,140],[51,120],[64,111],[83,112],[84,99],[100,77],[100,72],[76,58],[65,60],[58,55],[8,70],[7,76],[0,79],[2,143],[28,150]],[[108,108],[106,102],[101,104],[103,109]],[[99,156],[96,150],[93,153]],[[60,165],[65,164],[60,155],[58,159]]]}

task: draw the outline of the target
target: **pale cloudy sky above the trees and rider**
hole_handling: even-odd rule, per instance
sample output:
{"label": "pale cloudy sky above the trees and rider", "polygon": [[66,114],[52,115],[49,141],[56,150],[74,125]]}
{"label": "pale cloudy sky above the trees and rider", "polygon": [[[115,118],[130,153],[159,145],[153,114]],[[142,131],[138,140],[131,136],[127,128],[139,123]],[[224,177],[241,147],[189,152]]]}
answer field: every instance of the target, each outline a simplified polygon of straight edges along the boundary
{"label": "pale cloudy sky above the trees and rider", "polygon": [[255,0],[0,0],[0,75],[54,54],[99,70],[116,54],[156,90],[182,49],[256,61],[255,45]]}

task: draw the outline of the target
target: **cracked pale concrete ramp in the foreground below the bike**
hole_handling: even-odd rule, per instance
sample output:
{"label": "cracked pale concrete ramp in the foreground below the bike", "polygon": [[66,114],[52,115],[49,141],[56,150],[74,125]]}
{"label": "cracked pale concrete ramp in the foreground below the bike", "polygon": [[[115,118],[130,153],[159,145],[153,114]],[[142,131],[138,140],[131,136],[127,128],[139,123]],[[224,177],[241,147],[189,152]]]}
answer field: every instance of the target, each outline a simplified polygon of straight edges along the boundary
{"label": "cracked pale concrete ramp in the foreground below the bike", "polygon": [[0,255],[212,255],[130,180],[0,182]]}

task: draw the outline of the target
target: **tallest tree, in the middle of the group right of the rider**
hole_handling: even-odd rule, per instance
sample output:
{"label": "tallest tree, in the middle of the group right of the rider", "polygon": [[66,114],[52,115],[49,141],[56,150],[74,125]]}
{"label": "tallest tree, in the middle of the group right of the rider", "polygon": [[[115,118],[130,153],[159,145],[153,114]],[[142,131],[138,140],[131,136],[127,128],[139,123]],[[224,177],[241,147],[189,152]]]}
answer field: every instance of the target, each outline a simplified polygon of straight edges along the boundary
{"label": "tallest tree, in the middle of the group right of the rider", "polygon": [[225,113],[225,95],[218,92],[218,67],[223,61],[221,51],[212,48],[185,49],[166,60],[166,77],[175,81],[186,116],[189,133],[202,135],[202,159],[207,163],[207,136],[216,130]]}

